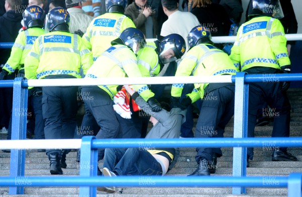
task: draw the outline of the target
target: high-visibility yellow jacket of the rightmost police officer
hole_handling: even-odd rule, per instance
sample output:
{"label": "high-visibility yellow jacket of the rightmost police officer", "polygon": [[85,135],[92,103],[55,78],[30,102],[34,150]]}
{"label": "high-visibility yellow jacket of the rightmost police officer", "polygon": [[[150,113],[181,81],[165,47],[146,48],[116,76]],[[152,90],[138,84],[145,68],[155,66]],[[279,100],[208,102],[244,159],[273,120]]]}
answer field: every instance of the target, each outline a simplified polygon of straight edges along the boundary
{"label": "high-visibility yellow jacket of the rightmost police officer", "polygon": [[290,65],[284,29],[278,19],[255,17],[242,24],[232,47],[231,59],[240,71],[252,67],[284,70]]}

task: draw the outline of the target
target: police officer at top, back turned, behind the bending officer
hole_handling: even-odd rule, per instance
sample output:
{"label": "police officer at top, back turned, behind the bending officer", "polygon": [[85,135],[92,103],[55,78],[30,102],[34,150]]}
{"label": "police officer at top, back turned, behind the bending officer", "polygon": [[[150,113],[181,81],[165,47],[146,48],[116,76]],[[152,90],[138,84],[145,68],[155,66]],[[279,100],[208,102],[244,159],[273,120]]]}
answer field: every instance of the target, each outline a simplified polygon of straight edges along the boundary
{"label": "police officer at top, back turned, behind the bending officer", "polygon": [[135,25],[124,15],[127,0],[108,0],[105,14],[95,18],[83,35],[85,45],[92,51],[94,61],[111,46],[123,30]]}

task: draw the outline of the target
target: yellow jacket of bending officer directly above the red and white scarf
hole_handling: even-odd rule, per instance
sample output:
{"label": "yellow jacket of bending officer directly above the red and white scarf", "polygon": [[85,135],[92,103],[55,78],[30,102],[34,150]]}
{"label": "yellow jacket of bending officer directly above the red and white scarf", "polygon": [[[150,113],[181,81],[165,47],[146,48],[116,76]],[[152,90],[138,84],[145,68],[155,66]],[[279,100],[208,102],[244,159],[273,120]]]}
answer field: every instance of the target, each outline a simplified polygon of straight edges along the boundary
{"label": "yellow jacket of bending officer directly above the red and white scarf", "polygon": [[[121,78],[121,77],[142,77],[137,66],[137,58],[133,51],[124,45],[109,47],[93,63],[85,78]],[[117,93],[118,85],[99,86],[106,91],[111,98]],[[147,101],[154,96],[147,85],[133,85],[138,94]]]}

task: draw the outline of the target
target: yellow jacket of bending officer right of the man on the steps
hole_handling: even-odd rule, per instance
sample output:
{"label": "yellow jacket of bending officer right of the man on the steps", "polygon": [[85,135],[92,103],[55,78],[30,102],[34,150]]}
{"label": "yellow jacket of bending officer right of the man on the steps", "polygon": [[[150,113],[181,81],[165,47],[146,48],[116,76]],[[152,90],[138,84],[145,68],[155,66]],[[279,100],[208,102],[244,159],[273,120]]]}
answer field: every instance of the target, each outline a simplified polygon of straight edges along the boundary
{"label": "yellow jacket of bending officer right of the man on the steps", "polygon": [[[180,62],[175,76],[212,76],[236,75],[236,68],[222,50],[211,44],[199,44],[191,48]],[[192,93],[187,94],[192,103],[204,96],[204,89],[208,83],[194,84]],[[184,84],[173,84],[171,96],[180,97]]]}

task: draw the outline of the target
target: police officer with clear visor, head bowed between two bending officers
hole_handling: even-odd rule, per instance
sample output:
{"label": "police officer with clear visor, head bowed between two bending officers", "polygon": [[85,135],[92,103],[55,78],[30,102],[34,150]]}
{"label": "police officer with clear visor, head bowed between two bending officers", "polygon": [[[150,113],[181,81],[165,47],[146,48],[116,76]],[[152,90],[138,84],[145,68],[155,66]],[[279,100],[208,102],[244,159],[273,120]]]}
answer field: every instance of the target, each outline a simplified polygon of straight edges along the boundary
{"label": "police officer with clear visor, head bowed between two bending officers", "polygon": [[[142,77],[157,76],[167,62],[181,58],[186,51],[186,42],[179,34],[170,34],[160,40],[146,42],[138,50],[137,63]],[[167,55],[171,53],[172,55]],[[131,98],[132,99],[132,98]],[[147,132],[149,116],[131,109],[131,119],[117,115],[123,138],[144,138]]]}

